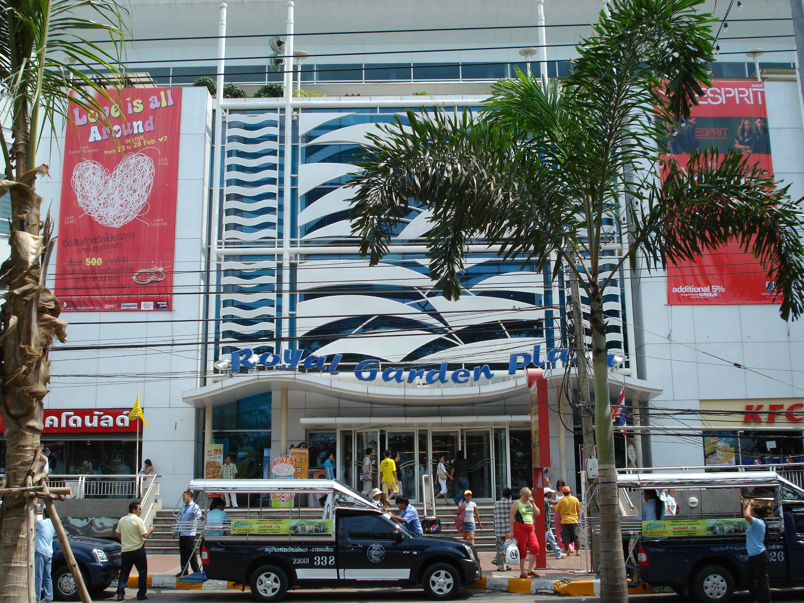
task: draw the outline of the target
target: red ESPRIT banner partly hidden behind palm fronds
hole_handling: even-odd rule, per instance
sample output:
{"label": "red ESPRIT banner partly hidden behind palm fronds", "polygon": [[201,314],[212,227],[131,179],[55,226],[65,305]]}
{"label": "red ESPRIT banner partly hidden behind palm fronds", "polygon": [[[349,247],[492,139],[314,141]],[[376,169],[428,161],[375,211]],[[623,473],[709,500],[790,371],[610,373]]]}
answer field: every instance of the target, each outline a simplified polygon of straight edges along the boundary
{"label": "red ESPRIT banner partly hidden behind palm fronds", "polygon": [[[699,103],[685,124],[675,124],[678,133],[670,143],[675,161],[686,165],[692,150],[736,149],[773,174],[764,83],[715,81]],[[667,302],[674,306],[779,303],[775,287],[759,260],[736,244],[667,268]]]}

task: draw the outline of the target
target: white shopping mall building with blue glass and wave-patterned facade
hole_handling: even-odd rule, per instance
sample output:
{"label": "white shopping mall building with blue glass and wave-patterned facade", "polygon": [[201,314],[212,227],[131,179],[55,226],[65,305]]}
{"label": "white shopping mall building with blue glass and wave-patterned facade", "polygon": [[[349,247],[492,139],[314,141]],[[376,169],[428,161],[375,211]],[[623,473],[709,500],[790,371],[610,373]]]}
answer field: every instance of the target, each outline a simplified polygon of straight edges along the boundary
{"label": "white shopping mall building with blue glass and wave-patterned facade", "polygon": [[[572,44],[589,33],[584,24],[600,7],[547,2],[547,55],[534,55],[531,69],[568,73]],[[129,69],[145,87],[137,93],[157,99],[146,101],[144,135],[150,110],[156,127],[159,111],[178,116],[178,147],[158,163],[176,168],[165,184],[174,201],[173,193],[154,196],[154,185],[150,205],[133,215],[164,212],[161,220],[140,219],[146,227],[137,228],[172,222],[173,255],[165,262],[143,252],[139,280],[119,281],[117,301],[102,298],[104,285],[97,285],[96,301],[84,295],[68,302],[69,339],[53,347],[45,400],[52,418],[43,441],[55,473],[126,474],[150,458],[172,506],[187,482],[203,475],[207,444],[223,445],[239,477],[262,478],[270,459],[304,442],[312,475],[331,451],[338,478],[355,485],[364,449],[398,451],[403,490],[414,499],[420,475],[433,473],[441,454],[466,454],[475,497],[491,500],[503,486],[531,482],[525,371],[541,366],[552,474],[576,483],[582,438],[573,412],[577,383],[564,366],[564,270],[551,273],[554,263],[539,270],[473,246],[463,294],[447,301],[428,276],[429,212],[410,207],[388,256],[370,266],[351,234],[345,186],[380,125],[397,118],[404,125],[404,112],[422,105],[478,111],[490,84],[527,69],[519,51],[540,46],[538,29],[530,27],[537,25],[537,3],[480,2],[469,10],[449,2],[299,0],[293,43],[307,53],[301,88],[326,96],[288,101],[252,97],[282,80],[271,69],[269,34],[287,39],[287,3],[229,2],[225,80],[249,97],[222,105],[207,88],[191,85],[217,72],[219,3],[131,2],[130,10],[139,41],[128,51]],[[728,82],[716,88],[744,103],[743,91],[750,91],[764,105],[774,173],[798,199],[802,98],[794,39],[783,37],[793,31],[789,18],[781,0],[745,2],[729,17],[712,73]],[[758,46],[765,49],[758,64],[764,88],[745,55]],[[82,120],[77,114],[76,127]],[[102,131],[92,140],[92,127],[77,131],[103,142]],[[92,214],[65,215],[63,195],[72,195],[76,182],[70,144],[61,136],[43,144],[52,178],[38,188],[52,202],[60,236],[50,282],[63,297],[70,292],[65,245],[72,240],[64,232]],[[80,157],[89,159],[97,157]],[[117,178],[113,168],[106,168],[108,178]],[[167,219],[170,203],[175,215]],[[609,247],[603,270],[613,269],[621,253],[617,244]],[[134,283],[158,284],[166,273],[172,284],[163,297],[123,299]],[[624,390],[629,425],[644,428],[618,432],[618,465],[804,460],[800,323],[782,321],[767,298],[723,303],[717,289],[694,296],[675,289],[661,270],[631,271],[626,263],[605,291],[609,394],[616,400]],[[228,360],[241,350],[232,372]],[[560,395],[565,376],[567,396]],[[150,425],[142,432],[119,418],[137,389]]]}

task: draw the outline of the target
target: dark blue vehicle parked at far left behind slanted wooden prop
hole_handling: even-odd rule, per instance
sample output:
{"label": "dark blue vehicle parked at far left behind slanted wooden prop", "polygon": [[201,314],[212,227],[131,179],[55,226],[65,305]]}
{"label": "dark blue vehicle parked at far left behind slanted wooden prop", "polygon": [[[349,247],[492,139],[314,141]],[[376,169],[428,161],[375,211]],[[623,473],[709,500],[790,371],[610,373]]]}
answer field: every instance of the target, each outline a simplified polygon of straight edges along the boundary
{"label": "dark blue vehicle parked at far left behind slanted wooden prop", "polygon": [[[121,546],[112,540],[68,536],[72,554],[84,576],[84,584],[90,593],[102,593],[117,581],[120,572]],[[53,596],[59,601],[78,601],[76,581],[72,578],[67,560],[61,552],[59,539],[53,539]]]}

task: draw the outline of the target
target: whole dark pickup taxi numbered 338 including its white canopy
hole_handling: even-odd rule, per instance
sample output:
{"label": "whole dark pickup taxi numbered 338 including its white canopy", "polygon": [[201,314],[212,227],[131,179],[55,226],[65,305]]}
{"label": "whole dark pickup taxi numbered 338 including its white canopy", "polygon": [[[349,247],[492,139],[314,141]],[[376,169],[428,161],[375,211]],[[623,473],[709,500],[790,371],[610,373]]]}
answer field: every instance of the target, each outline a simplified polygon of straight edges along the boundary
{"label": "whole dark pickup taxi numbered 338 including its white canopy", "polygon": [[447,600],[481,576],[466,541],[414,534],[336,480],[195,480],[190,489],[202,508],[219,493],[250,494],[245,514],[207,519],[200,551],[210,579],[248,586],[257,601],[279,601],[293,586],[420,586]]}

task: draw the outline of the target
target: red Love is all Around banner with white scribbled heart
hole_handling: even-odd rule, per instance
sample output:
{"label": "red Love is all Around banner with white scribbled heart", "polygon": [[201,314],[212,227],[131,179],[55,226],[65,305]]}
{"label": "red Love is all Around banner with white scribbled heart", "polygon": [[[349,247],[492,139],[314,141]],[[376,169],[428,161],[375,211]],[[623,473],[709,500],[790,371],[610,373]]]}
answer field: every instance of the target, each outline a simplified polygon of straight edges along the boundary
{"label": "red Love is all Around banner with white scribbled heart", "polygon": [[181,88],[70,106],[55,294],[72,312],[171,310]]}

